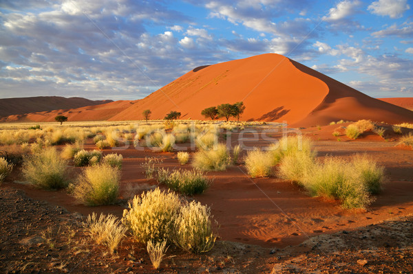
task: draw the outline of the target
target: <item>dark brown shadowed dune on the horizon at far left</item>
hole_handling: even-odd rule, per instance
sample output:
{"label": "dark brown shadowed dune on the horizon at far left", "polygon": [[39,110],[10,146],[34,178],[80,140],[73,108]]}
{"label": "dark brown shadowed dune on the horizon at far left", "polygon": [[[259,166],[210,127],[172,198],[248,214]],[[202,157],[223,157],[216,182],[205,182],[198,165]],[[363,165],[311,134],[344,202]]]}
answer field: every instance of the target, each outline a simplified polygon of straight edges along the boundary
{"label": "dark brown shadowed dune on the horizon at far left", "polygon": [[77,109],[82,106],[105,104],[112,100],[93,101],[85,98],[64,98],[59,96],[39,96],[27,98],[0,99],[0,117],[34,113],[39,111],[53,111],[55,109]]}

